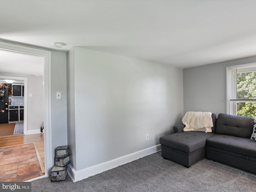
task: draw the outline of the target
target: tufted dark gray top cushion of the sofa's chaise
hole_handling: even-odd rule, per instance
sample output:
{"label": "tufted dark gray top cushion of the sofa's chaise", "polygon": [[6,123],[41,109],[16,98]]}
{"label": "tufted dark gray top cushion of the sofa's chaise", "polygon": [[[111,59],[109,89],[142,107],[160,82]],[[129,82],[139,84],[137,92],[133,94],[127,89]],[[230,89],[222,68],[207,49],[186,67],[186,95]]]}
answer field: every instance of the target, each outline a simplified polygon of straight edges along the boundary
{"label": "tufted dark gray top cushion of the sofa's chaise", "polygon": [[191,153],[204,147],[206,139],[214,135],[202,131],[186,131],[163,136],[160,138],[160,144]]}

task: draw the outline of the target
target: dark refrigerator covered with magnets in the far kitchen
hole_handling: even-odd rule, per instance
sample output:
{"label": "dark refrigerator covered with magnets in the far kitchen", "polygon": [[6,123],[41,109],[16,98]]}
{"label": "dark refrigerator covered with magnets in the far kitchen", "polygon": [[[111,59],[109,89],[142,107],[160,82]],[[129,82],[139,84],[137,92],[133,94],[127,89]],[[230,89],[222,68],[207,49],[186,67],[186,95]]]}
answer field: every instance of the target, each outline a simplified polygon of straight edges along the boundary
{"label": "dark refrigerator covered with magnets in the far kitchen", "polygon": [[0,124],[8,123],[8,88],[0,88]]}

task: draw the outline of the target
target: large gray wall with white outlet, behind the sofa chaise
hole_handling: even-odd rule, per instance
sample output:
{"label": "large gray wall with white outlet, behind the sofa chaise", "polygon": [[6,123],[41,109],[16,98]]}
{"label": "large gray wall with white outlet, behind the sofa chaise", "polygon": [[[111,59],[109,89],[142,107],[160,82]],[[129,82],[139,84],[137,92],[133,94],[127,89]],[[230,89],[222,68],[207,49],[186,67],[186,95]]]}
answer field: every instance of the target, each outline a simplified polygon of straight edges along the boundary
{"label": "large gray wall with white outlet, behind the sofa chaise", "polygon": [[76,144],[76,170],[155,146],[170,134],[183,114],[182,69],[80,47],[72,51],[74,92],[68,95],[74,94],[75,117],[68,119],[74,118],[75,130],[73,124],[68,129],[76,134],[69,140]]}

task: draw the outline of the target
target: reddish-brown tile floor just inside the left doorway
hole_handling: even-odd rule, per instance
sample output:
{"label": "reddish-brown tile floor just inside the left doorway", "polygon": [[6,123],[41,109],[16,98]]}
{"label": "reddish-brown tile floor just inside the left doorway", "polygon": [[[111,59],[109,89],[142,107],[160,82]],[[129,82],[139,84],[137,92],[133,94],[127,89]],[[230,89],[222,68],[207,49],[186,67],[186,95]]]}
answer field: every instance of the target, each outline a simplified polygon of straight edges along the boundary
{"label": "reddish-brown tile floor just inside the left doorway", "polygon": [[0,181],[20,182],[42,176],[34,144],[0,148]]}

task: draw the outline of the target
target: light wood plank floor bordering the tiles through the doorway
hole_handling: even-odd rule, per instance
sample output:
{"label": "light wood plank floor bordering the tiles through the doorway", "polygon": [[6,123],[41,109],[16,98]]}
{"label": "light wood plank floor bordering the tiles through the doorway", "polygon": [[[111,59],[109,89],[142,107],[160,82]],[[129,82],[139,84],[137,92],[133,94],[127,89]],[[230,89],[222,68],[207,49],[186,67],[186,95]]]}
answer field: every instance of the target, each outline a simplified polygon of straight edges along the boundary
{"label": "light wood plank floor bordering the tiles through the doorway", "polygon": [[44,134],[17,135],[0,138],[0,148],[35,143],[44,164]]}

